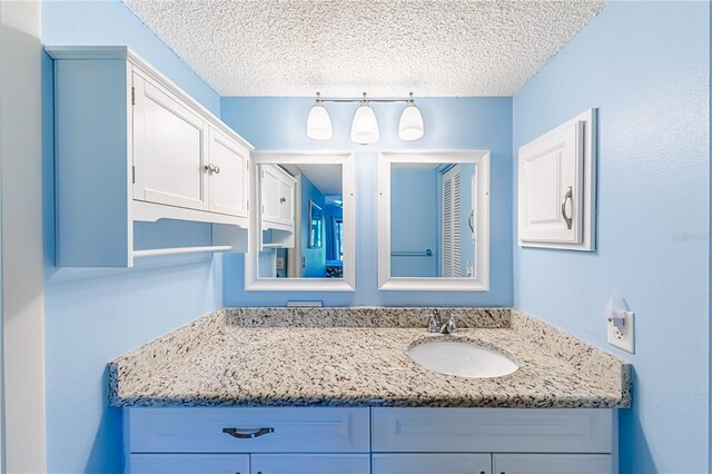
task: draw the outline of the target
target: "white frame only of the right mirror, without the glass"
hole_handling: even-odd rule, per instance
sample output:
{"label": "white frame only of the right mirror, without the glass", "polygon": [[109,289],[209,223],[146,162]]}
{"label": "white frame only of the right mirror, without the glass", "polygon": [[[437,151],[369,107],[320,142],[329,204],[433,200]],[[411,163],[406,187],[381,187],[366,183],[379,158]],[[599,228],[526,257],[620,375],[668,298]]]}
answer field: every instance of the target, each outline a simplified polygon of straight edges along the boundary
{"label": "white frame only of the right mirror, without the glass", "polygon": [[[390,276],[390,168],[392,164],[474,164],[477,166],[476,278]],[[488,292],[490,290],[490,151],[403,150],[378,154],[378,290],[382,292]]]}

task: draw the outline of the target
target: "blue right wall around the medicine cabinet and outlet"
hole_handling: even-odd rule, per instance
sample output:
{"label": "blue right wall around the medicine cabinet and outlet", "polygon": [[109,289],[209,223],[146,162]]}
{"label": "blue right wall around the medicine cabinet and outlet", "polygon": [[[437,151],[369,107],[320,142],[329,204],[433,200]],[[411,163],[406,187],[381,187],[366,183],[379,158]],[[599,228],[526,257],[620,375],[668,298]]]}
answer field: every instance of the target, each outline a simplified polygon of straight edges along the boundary
{"label": "blue right wall around the medicine cabinet and outlet", "polygon": [[[514,98],[514,150],[600,108],[597,249],[515,247],[514,303],[634,363],[622,473],[709,467],[708,9],[614,1]],[[606,344],[613,293],[635,355]]]}

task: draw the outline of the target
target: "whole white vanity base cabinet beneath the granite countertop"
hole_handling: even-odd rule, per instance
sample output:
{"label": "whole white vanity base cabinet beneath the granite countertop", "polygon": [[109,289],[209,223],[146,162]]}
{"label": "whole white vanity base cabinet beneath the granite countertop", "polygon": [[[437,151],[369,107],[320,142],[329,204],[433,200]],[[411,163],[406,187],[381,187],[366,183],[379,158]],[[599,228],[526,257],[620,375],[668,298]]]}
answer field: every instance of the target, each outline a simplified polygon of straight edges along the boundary
{"label": "whole white vanity base cabinet beneath the granite countertop", "polygon": [[205,462],[197,472],[241,474],[249,464],[251,474],[616,473],[616,416],[594,408],[126,408],[126,472],[187,473]]}

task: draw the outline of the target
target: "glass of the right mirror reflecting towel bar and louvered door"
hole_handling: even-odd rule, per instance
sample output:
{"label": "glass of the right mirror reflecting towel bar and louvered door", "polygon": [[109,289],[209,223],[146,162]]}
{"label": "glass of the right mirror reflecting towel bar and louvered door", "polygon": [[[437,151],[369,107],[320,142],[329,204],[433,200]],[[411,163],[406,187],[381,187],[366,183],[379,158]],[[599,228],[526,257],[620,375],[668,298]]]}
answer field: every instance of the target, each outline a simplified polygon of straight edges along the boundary
{"label": "glass of the right mirror reflecting towel bar and louvered door", "polygon": [[392,165],[392,277],[474,277],[476,167]]}

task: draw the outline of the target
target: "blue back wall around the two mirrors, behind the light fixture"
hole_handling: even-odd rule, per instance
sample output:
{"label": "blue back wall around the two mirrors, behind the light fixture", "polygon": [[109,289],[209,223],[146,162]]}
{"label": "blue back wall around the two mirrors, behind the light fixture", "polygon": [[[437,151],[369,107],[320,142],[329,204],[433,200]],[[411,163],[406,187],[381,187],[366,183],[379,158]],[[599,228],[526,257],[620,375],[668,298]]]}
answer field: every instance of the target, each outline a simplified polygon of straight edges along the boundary
{"label": "blue back wall around the two mirrors, behind the light fixture", "polygon": [[[407,91],[404,91],[404,93]],[[417,99],[425,121],[418,141],[398,139],[402,105],[373,106],[380,141],[358,146],[349,139],[356,105],[327,105],[334,138],[306,137],[312,98],[222,98],[222,120],[239,130],[257,149],[354,150],[356,156],[356,292],[263,293],[245,292],[244,257],[225,256],[224,294],[227,306],[280,306],[288,299],[322,299],[326,305],[512,305],[512,99]],[[377,188],[378,150],[488,149],[492,150],[491,290],[488,293],[378,292]]]}

